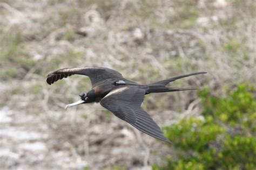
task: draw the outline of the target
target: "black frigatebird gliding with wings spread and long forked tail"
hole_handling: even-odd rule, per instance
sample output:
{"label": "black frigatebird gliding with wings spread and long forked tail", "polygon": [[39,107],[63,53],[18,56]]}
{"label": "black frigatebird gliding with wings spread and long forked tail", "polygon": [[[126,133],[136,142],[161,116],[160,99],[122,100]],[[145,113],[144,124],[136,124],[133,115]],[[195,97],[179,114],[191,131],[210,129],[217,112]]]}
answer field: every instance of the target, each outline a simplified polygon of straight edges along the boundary
{"label": "black frigatebird gliding with wings spread and long forked tail", "polygon": [[156,122],[141,108],[144,95],[150,93],[163,93],[168,91],[196,90],[198,88],[171,88],[166,87],[170,82],[183,77],[205,74],[198,72],[172,77],[151,84],[139,84],[125,79],[116,70],[104,67],[73,67],[58,69],[48,74],[46,82],[52,84],[74,74],[89,76],[92,89],[88,93],[81,93],[80,100],[66,105],[65,109],[78,104],[100,102],[107,110],[115,116],[123,119],[138,130],[150,136],[170,143]]}

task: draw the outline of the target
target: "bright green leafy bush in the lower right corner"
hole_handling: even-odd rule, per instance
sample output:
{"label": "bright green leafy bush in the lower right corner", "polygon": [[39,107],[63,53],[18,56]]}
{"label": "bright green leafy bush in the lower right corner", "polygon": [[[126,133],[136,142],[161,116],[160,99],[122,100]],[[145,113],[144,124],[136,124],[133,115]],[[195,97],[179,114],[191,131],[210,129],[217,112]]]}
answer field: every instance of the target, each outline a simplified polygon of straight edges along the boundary
{"label": "bright green leafy bush in the lower right corner", "polygon": [[204,111],[166,126],[174,149],[167,166],[153,169],[255,169],[256,89],[239,84],[226,97],[199,92]]}

